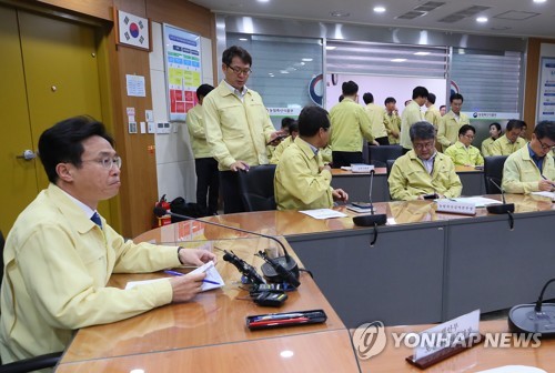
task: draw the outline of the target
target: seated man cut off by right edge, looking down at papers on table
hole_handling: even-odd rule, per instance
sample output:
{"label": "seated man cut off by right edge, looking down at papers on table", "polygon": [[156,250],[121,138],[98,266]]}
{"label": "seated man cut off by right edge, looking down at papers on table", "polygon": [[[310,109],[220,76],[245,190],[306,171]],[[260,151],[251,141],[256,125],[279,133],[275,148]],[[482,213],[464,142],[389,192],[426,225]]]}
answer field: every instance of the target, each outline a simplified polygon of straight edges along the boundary
{"label": "seated man cut off by right edge, looking down at papers on table", "polygon": [[526,147],[508,155],[503,168],[503,189],[507,193],[555,190],[555,122],[539,122]]}

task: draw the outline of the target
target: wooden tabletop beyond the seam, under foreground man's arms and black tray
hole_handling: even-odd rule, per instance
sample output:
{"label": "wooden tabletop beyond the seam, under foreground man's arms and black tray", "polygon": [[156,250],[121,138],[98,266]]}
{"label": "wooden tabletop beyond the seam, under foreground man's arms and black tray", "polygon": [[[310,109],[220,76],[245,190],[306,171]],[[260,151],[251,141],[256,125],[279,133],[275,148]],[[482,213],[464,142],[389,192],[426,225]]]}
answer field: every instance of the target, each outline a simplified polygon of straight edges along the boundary
{"label": "wooden tabletop beyond the seam, under foreground man's arms and black tray", "polygon": [[[145,233],[142,238],[149,239],[150,234]],[[254,252],[268,248],[265,241],[263,239],[221,240],[215,241],[213,245],[233,250],[239,258],[260,268],[262,260],[254,256]],[[199,241],[189,242],[186,245],[203,244],[205,244],[204,241]],[[225,280],[223,288],[203,292],[192,302],[169,304],[117,323],[81,329],[63,355],[62,363],[285,335],[346,331],[343,322],[307,273],[301,274],[301,286],[297,291],[287,293],[289,299],[281,308],[263,308],[246,299],[248,292],[241,289],[243,286],[240,283],[241,274],[232,264],[221,259],[221,251],[214,250],[220,256],[216,269]],[[163,276],[168,275],[163,273],[114,274],[109,285],[124,288],[128,281]],[[327,314],[325,323],[255,332],[245,326],[246,315],[315,309],[325,311]]]}

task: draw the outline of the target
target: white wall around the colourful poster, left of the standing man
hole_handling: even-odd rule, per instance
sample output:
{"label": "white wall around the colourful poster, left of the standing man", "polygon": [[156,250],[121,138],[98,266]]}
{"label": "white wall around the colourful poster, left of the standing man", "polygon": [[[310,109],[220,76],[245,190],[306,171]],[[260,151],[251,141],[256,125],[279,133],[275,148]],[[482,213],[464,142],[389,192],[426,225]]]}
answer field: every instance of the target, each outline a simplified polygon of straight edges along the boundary
{"label": "white wall around the colourful poster, left of the standing man", "polygon": [[[212,41],[201,38],[202,82],[213,84]],[[163,57],[162,24],[152,22],[152,52],[150,77],[154,122],[168,122],[168,97],[165,91],[165,67]],[[172,133],[155,134],[158,196],[167,194],[169,201],[183,196],[188,202],[196,201],[196,175],[185,123],[172,123]]]}

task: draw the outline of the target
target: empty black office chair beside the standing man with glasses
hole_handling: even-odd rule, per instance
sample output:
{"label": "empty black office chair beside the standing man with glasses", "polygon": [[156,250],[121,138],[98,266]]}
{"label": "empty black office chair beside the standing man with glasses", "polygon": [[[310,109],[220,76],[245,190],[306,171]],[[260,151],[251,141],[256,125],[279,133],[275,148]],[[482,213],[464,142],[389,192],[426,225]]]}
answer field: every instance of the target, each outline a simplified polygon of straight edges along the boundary
{"label": "empty black office chair beside the standing man with glasses", "polygon": [[275,164],[252,167],[239,172],[239,189],[245,211],[275,210]]}

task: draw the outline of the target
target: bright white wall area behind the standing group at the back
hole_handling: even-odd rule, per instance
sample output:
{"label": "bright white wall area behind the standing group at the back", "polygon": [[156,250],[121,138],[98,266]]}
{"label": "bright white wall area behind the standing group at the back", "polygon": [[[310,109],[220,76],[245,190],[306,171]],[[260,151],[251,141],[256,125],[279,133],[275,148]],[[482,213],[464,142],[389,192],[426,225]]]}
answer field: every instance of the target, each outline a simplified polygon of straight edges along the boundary
{"label": "bright white wall area behind the standing group at the back", "polygon": [[[445,97],[445,79],[349,74],[337,74],[337,83],[335,85],[332,83],[331,75],[326,75],[325,101],[327,110],[339,102],[337,99],[341,95],[341,84],[350,80],[359,84],[359,103],[362,105],[364,105],[362,95],[365,92],[372,93],[374,95],[374,103],[379,105],[383,105],[385,99],[392,97],[397,101],[397,109],[401,114],[405,107],[405,100],[412,99],[413,89],[417,85],[422,85],[435,94],[435,107],[437,109],[440,109],[442,104],[447,104],[448,110],[448,102],[446,103],[447,99]],[[425,110],[426,107],[422,107],[422,111]]]}

